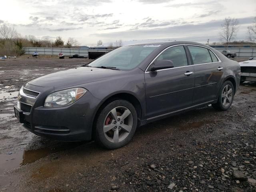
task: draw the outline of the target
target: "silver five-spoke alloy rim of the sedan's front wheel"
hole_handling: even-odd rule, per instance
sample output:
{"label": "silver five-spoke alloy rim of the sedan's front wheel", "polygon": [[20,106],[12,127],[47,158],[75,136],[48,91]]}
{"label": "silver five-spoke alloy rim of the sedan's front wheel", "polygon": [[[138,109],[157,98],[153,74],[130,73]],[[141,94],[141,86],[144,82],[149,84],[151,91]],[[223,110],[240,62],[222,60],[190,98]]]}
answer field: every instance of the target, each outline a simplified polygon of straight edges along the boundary
{"label": "silver five-spoke alloy rim of the sedan's front wheel", "polygon": [[133,117],[131,111],[123,106],[112,109],[104,120],[103,132],[112,143],[125,140],[132,130]]}

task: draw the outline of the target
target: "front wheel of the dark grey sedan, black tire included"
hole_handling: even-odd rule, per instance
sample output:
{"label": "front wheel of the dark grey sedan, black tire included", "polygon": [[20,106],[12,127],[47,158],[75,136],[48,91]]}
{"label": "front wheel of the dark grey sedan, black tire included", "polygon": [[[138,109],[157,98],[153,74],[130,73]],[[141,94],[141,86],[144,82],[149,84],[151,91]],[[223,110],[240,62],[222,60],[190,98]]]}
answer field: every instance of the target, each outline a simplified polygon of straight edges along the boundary
{"label": "front wheel of the dark grey sedan, black tire included", "polygon": [[114,100],[104,106],[97,116],[94,122],[95,140],[102,147],[120,148],[130,142],[134,136],[138,118],[130,102]]}

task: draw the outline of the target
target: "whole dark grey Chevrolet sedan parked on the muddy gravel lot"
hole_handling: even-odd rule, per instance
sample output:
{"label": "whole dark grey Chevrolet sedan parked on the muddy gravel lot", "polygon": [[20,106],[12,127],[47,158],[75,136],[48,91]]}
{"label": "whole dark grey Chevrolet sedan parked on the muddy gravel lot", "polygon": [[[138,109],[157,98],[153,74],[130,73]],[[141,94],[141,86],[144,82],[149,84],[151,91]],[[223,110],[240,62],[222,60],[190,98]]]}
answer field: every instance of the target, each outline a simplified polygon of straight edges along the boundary
{"label": "whole dark grey Chevrolet sedan parked on the muddy gravel lot", "polygon": [[29,81],[14,111],[36,135],[114,149],[148,122],[208,104],[228,110],[239,82],[239,64],[209,46],[136,44]]}

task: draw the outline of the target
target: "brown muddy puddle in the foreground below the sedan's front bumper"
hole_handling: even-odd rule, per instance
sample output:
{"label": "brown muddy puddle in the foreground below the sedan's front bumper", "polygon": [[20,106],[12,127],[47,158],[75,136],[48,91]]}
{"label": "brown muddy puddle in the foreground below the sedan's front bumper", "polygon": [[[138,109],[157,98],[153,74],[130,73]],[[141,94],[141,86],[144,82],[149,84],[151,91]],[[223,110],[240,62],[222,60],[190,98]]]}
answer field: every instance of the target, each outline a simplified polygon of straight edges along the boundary
{"label": "brown muddy puddle in the foreground below the sedan's front bumper", "polygon": [[82,144],[84,144],[84,142],[67,142],[57,148],[46,147],[35,150],[2,153],[0,154],[0,175],[25,164],[33,163],[52,153],[76,148]]}

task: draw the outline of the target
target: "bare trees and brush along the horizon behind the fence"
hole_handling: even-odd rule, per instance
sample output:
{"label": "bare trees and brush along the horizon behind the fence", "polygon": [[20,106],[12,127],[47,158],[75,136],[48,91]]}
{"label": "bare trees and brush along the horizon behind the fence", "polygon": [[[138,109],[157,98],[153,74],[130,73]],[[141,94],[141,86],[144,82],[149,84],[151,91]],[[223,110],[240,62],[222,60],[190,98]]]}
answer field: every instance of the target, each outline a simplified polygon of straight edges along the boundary
{"label": "bare trees and brush along the horizon behind the fence", "polygon": [[[229,44],[256,44],[256,17],[251,26],[247,26],[246,40],[236,41],[236,35],[240,28],[238,19],[225,18],[223,24],[220,26],[220,44],[228,46]],[[209,39],[207,41],[209,44]],[[219,44],[212,42],[211,44]],[[78,48],[80,43],[75,38],[68,38],[67,42],[64,42],[62,37],[58,36],[56,40],[52,40],[48,37],[41,39],[36,38],[33,35],[20,35],[16,29],[12,26],[3,24],[0,26],[0,56],[20,56],[24,54],[23,47],[52,47],[52,48]],[[102,40],[98,40],[97,46],[102,45]],[[123,46],[122,40],[116,40],[116,42],[110,42],[108,48],[117,48]]]}

